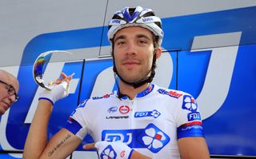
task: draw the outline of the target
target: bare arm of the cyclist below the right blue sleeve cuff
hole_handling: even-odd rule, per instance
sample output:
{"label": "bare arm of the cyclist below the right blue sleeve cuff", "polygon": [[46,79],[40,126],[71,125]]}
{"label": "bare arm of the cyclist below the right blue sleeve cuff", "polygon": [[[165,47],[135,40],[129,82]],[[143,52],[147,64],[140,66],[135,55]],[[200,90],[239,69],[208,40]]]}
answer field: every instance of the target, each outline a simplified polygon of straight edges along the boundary
{"label": "bare arm of the cyclist below the right blue sleeve cuff", "polygon": [[178,149],[182,159],[210,159],[204,137],[184,137],[178,139]]}

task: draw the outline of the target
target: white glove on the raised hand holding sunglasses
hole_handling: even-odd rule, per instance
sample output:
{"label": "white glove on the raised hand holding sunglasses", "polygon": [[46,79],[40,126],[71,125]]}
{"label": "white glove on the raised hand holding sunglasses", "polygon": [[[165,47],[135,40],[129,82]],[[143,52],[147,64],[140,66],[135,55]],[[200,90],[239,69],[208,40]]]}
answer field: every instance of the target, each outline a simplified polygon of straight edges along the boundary
{"label": "white glove on the raised hand holding sunglasses", "polygon": [[59,85],[53,85],[51,90],[44,89],[42,93],[39,94],[40,99],[46,99],[54,105],[54,103],[69,94],[69,85],[66,81],[62,81]]}

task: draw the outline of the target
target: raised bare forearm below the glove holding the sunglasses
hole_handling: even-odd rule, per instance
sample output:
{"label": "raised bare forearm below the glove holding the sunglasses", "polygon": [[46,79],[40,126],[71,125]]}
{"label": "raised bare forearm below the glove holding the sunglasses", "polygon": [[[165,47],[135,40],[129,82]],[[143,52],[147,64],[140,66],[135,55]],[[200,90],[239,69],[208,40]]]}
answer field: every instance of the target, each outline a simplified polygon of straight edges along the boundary
{"label": "raised bare forearm below the glove holding the sunglasses", "polygon": [[39,158],[47,144],[47,125],[52,112],[50,101],[40,100],[26,137],[23,158]]}

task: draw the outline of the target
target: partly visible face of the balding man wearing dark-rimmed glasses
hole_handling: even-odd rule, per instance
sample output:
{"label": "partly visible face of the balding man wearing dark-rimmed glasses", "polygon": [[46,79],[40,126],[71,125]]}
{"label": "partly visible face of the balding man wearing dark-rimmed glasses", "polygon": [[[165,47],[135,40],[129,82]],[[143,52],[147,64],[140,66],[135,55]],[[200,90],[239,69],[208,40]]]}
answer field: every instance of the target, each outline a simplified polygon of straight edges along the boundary
{"label": "partly visible face of the balding man wearing dark-rimmed glasses", "polygon": [[[6,74],[1,75],[0,80],[12,85],[15,92],[18,93],[18,81],[16,78]],[[6,110],[10,108],[10,105],[12,105],[15,101],[15,95],[10,95],[8,93],[8,89],[10,89],[9,85],[0,82],[0,115],[4,114]]]}

